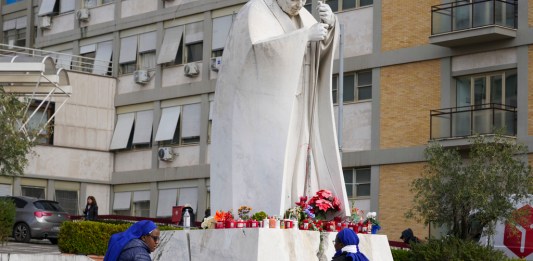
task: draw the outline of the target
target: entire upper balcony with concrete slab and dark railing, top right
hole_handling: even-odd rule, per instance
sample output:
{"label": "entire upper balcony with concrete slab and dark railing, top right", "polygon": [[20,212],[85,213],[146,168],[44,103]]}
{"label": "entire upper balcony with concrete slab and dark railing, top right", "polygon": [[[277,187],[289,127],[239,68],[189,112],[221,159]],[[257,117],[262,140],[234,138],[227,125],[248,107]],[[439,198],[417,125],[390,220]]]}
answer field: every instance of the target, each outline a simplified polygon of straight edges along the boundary
{"label": "entire upper balcony with concrete slab and dark railing, top right", "polygon": [[431,44],[457,47],[516,37],[516,0],[452,2],[431,7]]}

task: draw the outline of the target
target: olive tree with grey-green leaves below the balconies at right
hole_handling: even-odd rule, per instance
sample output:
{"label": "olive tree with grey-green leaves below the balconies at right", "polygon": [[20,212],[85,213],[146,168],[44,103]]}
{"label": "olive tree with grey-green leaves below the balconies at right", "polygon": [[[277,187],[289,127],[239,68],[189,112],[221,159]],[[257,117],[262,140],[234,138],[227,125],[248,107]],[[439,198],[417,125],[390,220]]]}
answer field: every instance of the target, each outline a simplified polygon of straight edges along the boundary
{"label": "olive tree with grey-green leaves below the balconies at right", "polygon": [[[407,217],[444,226],[449,234],[474,239],[496,221],[511,221],[514,204],[529,196],[533,178],[527,147],[500,134],[474,136],[467,149],[431,142],[422,177],[411,184],[413,207]],[[476,229],[479,228],[479,229]]]}

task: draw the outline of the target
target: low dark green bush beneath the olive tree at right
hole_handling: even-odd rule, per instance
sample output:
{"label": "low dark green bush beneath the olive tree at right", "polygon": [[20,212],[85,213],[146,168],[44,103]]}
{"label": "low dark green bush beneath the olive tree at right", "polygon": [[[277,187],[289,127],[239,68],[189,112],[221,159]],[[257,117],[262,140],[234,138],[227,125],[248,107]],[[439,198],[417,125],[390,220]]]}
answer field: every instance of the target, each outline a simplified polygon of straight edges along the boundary
{"label": "low dark green bush beneath the olive tree at right", "polygon": [[[396,260],[396,259],[395,259]],[[502,251],[471,240],[446,237],[427,243],[411,244],[411,260],[509,260]]]}

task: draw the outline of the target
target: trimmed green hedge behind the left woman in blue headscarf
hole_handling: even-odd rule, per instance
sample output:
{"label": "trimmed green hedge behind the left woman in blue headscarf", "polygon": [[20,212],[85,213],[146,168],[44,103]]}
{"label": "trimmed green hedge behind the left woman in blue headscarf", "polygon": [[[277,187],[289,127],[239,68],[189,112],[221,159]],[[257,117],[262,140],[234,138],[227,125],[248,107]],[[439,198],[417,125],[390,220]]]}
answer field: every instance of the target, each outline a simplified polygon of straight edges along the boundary
{"label": "trimmed green hedge behind the left woman in blue headscarf", "polygon": [[[67,221],[59,231],[58,248],[62,253],[104,255],[111,235],[123,232],[131,223],[109,224],[96,221]],[[172,226],[158,226],[159,230],[178,230]]]}

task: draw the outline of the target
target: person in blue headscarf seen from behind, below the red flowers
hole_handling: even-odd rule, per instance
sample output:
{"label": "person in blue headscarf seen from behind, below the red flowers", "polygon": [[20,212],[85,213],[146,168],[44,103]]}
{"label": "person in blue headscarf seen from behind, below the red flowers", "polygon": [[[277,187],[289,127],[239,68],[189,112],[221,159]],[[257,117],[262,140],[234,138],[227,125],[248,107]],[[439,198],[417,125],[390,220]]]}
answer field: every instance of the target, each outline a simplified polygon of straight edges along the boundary
{"label": "person in blue headscarf seen from behind, below the red flowers", "polygon": [[359,252],[359,237],[349,228],[337,233],[335,251],[332,261],[368,261],[368,258]]}

